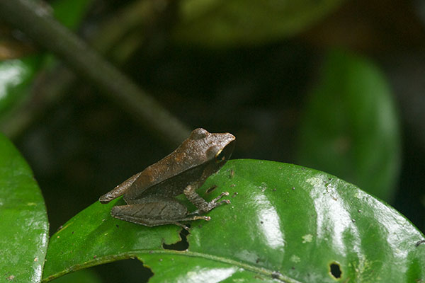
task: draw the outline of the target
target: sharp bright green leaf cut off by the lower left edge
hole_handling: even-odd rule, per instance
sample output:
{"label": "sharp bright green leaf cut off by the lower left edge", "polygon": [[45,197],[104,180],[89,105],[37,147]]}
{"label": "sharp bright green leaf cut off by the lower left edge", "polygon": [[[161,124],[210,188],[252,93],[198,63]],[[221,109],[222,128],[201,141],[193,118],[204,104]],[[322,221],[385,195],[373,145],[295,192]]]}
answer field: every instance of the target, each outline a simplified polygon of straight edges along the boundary
{"label": "sharp bright green leaf cut off by the lower left edge", "polygon": [[23,157],[0,134],[0,282],[40,282],[49,223]]}

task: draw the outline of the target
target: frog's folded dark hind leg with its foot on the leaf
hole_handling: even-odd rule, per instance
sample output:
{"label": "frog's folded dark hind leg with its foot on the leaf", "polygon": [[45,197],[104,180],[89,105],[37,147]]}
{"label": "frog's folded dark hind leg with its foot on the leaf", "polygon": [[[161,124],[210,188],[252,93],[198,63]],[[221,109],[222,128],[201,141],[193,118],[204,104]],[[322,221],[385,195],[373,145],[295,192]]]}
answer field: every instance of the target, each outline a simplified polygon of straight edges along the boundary
{"label": "frog's folded dark hind leg with its foot on the leaf", "polygon": [[210,220],[208,216],[188,216],[187,208],[178,200],[167,197],[147,197],[137,200],[137,203],[115,206],[111,209],[115,218],[145,226],[175,224],[188,229],[179,221],[198,219]]}

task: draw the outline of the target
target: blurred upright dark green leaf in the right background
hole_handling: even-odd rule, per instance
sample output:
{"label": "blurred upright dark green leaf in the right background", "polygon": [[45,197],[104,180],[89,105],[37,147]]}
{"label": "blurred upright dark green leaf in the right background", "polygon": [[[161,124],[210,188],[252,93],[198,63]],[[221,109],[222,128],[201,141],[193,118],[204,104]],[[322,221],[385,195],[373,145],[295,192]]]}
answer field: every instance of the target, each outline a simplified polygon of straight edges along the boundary
{"label": "blurred upright dark green leaf in the right background", "polygon": [[380,70],[353,54],[329,52],[306,105],[297,162],[390,201],[400,147],[397,111]]}

